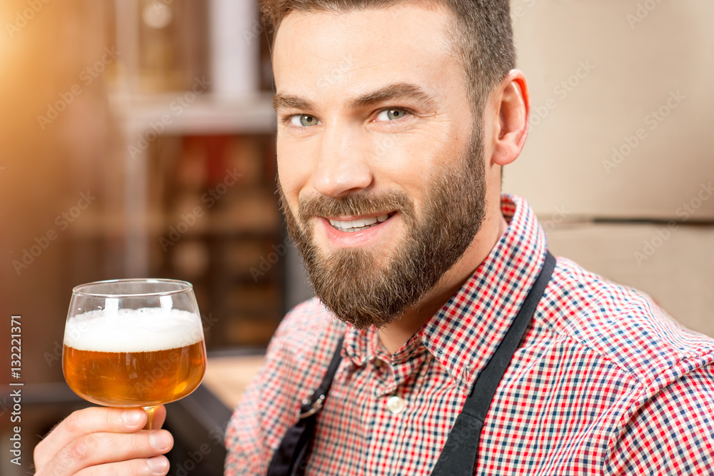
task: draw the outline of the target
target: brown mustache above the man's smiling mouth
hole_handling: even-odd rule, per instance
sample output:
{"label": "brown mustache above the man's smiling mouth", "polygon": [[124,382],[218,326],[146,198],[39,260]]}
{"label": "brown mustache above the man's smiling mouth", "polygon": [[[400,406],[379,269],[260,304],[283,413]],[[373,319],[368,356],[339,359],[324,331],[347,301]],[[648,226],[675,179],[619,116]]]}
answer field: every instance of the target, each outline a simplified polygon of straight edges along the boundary
{"label": "brown mustache above the man's smiling mouth", "polygon": [[301,198],[298,208],[302,221],[313,216],[372,215],[393,211],[412,217],[414,210],[411,199],[403,191],[359,192],[344,198],[313,195]]}

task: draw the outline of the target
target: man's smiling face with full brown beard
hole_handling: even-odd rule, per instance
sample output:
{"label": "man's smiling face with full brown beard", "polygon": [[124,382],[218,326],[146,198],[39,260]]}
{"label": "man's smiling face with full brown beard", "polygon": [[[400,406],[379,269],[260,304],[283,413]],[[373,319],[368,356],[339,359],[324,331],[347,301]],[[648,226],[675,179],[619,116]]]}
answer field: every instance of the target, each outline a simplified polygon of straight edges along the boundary
{"label": "man's smiling face with full brown beard", "polygon": [[450,14],[293,12],[273,50],[278,176],[316,294],[358,328],[418,305],[484,215],[480,123]]}

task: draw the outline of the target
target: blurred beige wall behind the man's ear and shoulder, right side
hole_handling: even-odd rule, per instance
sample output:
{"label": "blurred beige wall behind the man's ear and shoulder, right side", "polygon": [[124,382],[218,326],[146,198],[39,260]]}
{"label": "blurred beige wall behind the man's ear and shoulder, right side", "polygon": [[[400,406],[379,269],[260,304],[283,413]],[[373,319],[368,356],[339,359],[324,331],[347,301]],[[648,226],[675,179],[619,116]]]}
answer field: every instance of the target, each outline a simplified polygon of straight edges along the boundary
{"label": "blurred beige wall behind the man's ear and shoulder, right side", "polygon": [[532,114],[504,190],[555,254],[714,335],[714,3],[511,6]]}

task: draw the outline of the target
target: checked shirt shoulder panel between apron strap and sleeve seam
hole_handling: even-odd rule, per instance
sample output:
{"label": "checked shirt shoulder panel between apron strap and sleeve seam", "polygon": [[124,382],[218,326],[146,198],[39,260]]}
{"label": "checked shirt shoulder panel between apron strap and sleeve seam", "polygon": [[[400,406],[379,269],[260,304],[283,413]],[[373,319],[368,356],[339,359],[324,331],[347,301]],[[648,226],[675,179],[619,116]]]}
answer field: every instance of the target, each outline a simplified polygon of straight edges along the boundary
{"label": "checked shirt shoulder panel between apron strap and sleeve seam", "polygon": [[536,318],[608,360],[641,391],[656,391],[714,363],[713,339],[684,328],[645,293],[566,258],[558,258]]}

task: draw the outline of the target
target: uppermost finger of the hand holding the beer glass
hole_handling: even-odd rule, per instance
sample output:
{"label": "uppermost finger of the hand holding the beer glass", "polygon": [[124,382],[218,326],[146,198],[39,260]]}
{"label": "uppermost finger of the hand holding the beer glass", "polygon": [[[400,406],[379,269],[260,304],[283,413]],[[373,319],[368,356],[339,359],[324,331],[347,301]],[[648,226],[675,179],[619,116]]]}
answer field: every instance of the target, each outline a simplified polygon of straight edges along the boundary
{"label": "uppermost finger of the hand holding the beer glass", "polygon": [[[163,412],[165,416],[166,410]],[[140,408],[89,407],[77,410],[35,447],[35,465],[38,469],[43,467],[57,452],[83,435],[94,432],[136,432],[144,427],[146,419],[146,412]]]}

